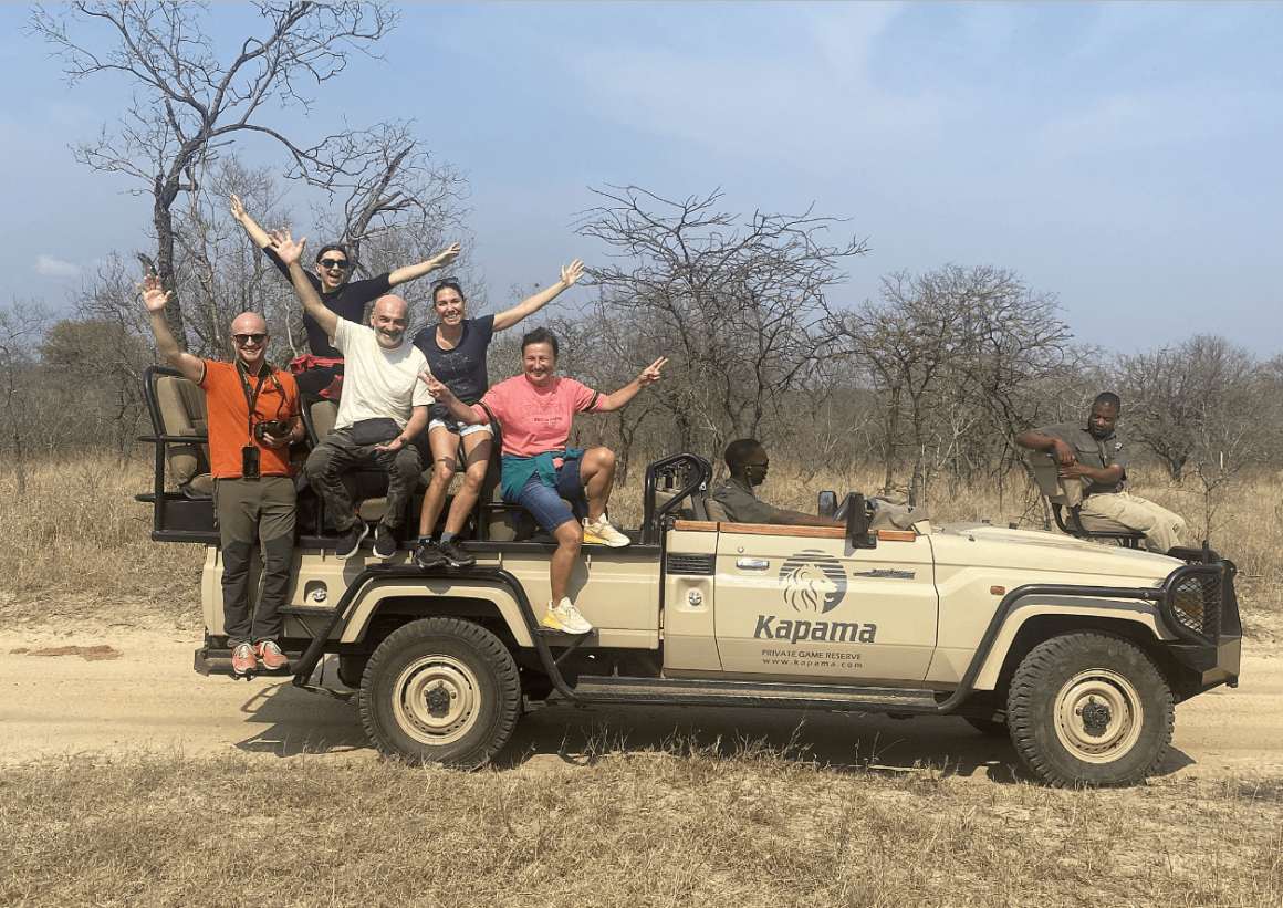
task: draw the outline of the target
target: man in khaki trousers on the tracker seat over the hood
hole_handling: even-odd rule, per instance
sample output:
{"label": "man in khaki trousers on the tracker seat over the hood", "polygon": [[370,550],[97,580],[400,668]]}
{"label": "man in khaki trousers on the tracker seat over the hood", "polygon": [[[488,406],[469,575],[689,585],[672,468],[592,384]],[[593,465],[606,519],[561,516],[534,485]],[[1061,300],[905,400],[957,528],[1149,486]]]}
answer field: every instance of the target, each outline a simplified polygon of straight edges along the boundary
{"label": "man in khaki trousers on the tracker seat over the hood", "polygon": [[1144,548],[1166,554],[1180,545],[1185,522],[1166,508],[1123,491],[1128,446],[1117,431],[1123,403],[1109,391],[1097,395],[1087,425],[1062,422],[1016,436],[1032,451],[1047,451],[1066,482],[1083,486],[1080,514],[1103,517],[1144,534]]}

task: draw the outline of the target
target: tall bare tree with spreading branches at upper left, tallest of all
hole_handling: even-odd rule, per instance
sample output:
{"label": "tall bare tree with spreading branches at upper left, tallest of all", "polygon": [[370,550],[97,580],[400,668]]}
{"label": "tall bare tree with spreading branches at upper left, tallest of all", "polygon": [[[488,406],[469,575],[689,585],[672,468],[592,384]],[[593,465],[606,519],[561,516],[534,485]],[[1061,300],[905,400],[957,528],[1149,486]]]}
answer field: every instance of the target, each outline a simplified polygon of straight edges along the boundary
{"label": "tall bare tree with spreading branches at upper left, tallest of all", "polygon": [[[370,47],[394,27],[396,14],[372,3],[257,3],[263,32],[245,38],[230,62],[219,60],[200,29],[204,4],[74,3],[37,6],[31,28],[64,62],[72,85],[89,76],[115,73],[133,86],[133,97],[114,132],[76,147],[80,162],[96,171],[124,173],[153,198],[153,255],[141,256],[166,287],[178,287],[174,206],[182,192],[199,187],[204,167],[242,133],[266,136],[290,155],[295,173],[330,187],[350,178],[364,162],[344,156],[350,132],[303,147],[258,122],[264,105],[298,103],[307,83],[340,74],[353,53]],[[78,24],[91,35],[73,32]],[[110,46],[98,46],[99,31]],[[182,299],[167,308],[180,344],[186,342]]]}

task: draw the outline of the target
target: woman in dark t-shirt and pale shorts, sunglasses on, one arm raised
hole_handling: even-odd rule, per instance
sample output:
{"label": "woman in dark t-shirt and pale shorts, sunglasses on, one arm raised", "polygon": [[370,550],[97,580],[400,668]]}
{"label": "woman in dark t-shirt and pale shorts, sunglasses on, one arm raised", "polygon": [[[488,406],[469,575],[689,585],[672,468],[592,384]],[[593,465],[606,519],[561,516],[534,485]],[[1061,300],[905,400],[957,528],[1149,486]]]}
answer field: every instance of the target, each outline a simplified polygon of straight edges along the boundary
{"label": "woman in dark t-shirt and pale shorts, sunglasses on, one arm raised", "polygon": [[[463,317],[467,300],[458,281],[440,280],[432,285],[432,310],[436,313],[438,323],[414,335],[414,346],[423,351],[427,366],[438,381],[449,385],[464,404],[475,404],[490,387],[485,355],[494,333],[511,328],[539,312],[582,276],[584,263],[575,259],[568,268],[562,265],[561,280],[547,290],[507,312],[480,318]],[[455,536],[463,530],[481,491],[481,481],[490,463],[493,439],[494,430],[490,423],[477,426],[462,423],[453,418],[441,403],[434,404],[429,410],[427,445],[432,458],[432,481],[423,495],[423,509],[418,518],[414,562],[420,567],[432,568],[446,563],[454,568],[466,568],[476,563],[476,558],[455,541]],[[432,528],[445,504],[461,445],[467,464],[463,485],[454,494],[438,545],[432,541]]]}

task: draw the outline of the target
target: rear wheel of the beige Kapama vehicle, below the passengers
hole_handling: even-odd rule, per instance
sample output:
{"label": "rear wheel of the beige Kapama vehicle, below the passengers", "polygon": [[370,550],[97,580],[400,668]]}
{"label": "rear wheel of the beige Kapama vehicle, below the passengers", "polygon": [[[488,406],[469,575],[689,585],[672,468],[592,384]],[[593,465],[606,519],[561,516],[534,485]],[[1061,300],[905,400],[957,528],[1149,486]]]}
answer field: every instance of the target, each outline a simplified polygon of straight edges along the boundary
{"label": "rear wheel of the beige Kapama vehicle, below the passengers", "polygon": [[521,705],[512,654],[479,625],[423,618],[370,658],[361,721],[381,753],[411,764],[472,768],[508,743]]}

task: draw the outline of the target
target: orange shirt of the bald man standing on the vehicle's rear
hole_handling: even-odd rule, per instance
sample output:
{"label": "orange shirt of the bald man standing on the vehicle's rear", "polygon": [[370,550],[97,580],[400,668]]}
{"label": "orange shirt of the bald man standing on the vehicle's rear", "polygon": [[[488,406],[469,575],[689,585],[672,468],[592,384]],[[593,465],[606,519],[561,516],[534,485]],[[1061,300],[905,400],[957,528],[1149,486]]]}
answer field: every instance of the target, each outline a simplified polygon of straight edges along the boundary
{"label": "orange shirt of the bald man standing on the vehicle's rear", "polygon": [[[249,432],[249,403],[235,363],[205,363],[205,378],[200,390],[205,392],[209,410],[209,464],[216,480],[239,480],[241,476],[241,448],[257,445],[258,467],[263,476],[290,475],[290,448],[268,448]],[[264,419],[290,419],[299,414],[299,386],[289,372],[272,369],[276,382],[263,378],[263,386],[254,401],[254,422]],[[277,387],[277,382],[280,387]],[[253,392],[258,377],[249,378]],[[282,395],[284,391],[284,395]]]}

